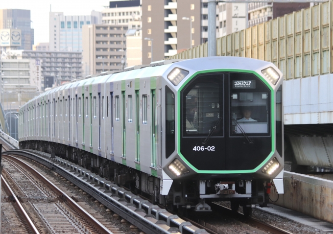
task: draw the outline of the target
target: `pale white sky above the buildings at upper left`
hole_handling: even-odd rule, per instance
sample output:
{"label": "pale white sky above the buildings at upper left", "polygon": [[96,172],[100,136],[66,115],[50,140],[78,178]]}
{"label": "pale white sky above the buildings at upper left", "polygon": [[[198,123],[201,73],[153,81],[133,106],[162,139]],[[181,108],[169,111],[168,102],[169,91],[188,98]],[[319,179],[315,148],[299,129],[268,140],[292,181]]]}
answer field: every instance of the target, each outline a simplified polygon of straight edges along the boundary
{"label": "pale white sky above the buildings at upper left", "polygon": [[1,0],[0,9],[25,9],[31,11],[35,42],[48,42],[48,13],[64,12],[64,15],[90,15],[92,10],[101,11],[110,0]]}

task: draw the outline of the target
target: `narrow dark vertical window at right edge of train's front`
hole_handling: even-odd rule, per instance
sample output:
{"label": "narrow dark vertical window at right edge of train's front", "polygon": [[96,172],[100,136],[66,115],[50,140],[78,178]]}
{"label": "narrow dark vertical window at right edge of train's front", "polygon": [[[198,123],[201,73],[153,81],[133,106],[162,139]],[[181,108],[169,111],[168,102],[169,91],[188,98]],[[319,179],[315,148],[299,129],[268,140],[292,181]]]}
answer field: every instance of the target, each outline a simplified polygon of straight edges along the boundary
{"label": "narrow dark vertical window at right edge of train's front", "polygon": [[282,125],[282,85],[276,92],[276,150],[282,157],[283,125]]}

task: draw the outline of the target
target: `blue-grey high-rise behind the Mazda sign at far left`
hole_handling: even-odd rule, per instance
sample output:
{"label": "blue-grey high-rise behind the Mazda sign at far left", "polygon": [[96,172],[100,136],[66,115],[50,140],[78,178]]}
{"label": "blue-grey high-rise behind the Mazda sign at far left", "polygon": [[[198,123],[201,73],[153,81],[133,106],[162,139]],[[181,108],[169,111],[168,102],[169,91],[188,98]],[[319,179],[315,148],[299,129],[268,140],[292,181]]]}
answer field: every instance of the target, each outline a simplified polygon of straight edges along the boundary
{"label": "blue-grey high-rise behind the Mazda sign at far left", "polygon": [[34,29],[31,28],[30,10],[0,9],[0,29],[18,28],[22,31],[22,46],[18,49],[32,49]]}

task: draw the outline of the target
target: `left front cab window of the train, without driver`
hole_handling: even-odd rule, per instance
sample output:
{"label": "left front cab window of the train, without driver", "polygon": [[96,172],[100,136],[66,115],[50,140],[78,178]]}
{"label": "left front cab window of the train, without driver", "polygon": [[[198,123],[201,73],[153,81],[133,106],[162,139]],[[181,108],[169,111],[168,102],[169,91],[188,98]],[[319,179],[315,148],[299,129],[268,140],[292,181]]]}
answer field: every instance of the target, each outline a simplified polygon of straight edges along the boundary
{"label": "left front cab window of the train, without driver", "polygon": [[183,136],[223,136],[223,74],[194,78],[182,92]]}

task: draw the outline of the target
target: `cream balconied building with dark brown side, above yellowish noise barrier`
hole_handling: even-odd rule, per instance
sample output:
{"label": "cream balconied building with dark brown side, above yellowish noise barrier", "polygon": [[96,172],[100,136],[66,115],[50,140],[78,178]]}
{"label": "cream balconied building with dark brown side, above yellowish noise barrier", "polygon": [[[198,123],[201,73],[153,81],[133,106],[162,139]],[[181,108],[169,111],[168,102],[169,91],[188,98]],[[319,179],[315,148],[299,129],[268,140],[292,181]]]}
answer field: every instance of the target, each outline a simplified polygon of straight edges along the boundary
{"label": "cream balconied building with dark brown side, above yellowish noise barrier", "polygon": [[310,6],[310,3],[291,2],[291,3],[277,3],[277,2],[254,2],[248,3],[248,27],[267,22],[293,11],[298,11]]}

